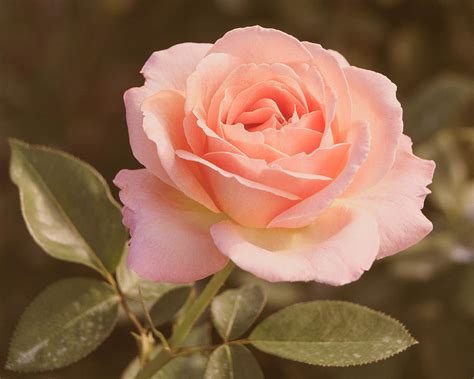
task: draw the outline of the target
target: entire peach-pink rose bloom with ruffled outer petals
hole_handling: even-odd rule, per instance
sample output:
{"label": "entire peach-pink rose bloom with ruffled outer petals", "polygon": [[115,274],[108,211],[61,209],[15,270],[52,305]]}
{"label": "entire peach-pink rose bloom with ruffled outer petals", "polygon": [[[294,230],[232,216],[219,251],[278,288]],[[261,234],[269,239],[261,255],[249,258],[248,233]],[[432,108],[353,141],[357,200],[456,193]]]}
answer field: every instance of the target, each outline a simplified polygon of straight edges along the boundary
{"label": "entire peach-pink rose bloom with ruffled outer petals", "polygon": [[190,282],[229,259],[268,281],[341,285],[424,238],[434,162],[396,86],[259,26],[152,54],[125,93],[145,167],[115,178],[140,276]]}

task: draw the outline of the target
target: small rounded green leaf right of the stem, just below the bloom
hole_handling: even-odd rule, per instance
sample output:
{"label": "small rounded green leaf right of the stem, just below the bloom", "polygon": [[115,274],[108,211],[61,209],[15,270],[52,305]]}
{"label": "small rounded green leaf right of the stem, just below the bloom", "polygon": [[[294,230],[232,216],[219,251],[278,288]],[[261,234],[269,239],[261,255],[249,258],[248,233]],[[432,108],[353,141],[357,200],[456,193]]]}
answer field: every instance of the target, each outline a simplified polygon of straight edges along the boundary
{"label": "small rounded green leaf right of the stem, just below the bloom", "polygon": [[227,290],[216,296],[211,315],[220,336],[227,341],[244,334],[262,312],[265,302],[265,292],[258,285]]}

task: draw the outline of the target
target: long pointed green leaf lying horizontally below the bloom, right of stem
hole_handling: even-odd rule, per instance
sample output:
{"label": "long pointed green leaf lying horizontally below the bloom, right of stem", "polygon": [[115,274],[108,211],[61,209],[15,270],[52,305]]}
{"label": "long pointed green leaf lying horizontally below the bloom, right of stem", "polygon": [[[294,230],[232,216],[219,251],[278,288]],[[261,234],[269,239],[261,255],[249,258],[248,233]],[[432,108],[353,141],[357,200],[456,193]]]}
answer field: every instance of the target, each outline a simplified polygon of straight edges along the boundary
{"label": "long pointed green leaf lying horizontally below the bloom, right of stem", "polygon": [[375,362],[417,343],[393,318],[343,301],[290,305],[262,321],[249,339],[266,353],[322,366]]}

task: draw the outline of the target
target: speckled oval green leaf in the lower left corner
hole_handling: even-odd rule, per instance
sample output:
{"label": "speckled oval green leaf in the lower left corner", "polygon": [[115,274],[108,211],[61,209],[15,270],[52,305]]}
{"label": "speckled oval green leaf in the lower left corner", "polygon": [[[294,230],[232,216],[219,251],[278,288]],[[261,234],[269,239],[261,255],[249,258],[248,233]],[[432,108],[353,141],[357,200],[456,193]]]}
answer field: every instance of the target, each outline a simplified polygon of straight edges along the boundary
{"label": "speckled oval green leaf in the lower left corner", "polygon": [[85,357],[112,332],[118,300],[108,284],[96,279],[72,278],[52,284],[21,316],[6,367],[46,371]]}

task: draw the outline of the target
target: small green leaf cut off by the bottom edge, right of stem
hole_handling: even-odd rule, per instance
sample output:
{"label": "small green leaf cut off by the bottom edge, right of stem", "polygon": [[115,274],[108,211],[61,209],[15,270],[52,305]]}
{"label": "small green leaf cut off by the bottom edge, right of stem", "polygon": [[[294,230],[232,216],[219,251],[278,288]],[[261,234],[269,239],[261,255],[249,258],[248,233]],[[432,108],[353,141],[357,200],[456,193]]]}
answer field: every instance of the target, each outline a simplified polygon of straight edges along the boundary
{"label": "small green leaf cut off by the bottom edge, right of stem", "polygon": [[263,372],[253,354],[237,344],[222,345],[207,362],[204,379],[263,379]]}

